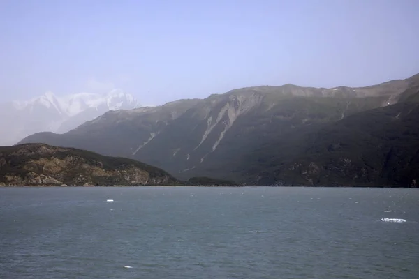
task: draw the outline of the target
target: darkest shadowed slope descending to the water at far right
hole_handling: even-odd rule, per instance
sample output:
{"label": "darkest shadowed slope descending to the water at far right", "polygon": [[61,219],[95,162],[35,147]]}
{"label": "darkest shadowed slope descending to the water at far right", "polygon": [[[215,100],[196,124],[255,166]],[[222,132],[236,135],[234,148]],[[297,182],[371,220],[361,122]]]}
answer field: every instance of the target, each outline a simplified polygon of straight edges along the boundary
{"label": "darkest shadowed slope descending to the water at far right", "polygon": [[419,104],[398,103],[288,133],[242,156],[247,183],[403,186],[419,181]]}

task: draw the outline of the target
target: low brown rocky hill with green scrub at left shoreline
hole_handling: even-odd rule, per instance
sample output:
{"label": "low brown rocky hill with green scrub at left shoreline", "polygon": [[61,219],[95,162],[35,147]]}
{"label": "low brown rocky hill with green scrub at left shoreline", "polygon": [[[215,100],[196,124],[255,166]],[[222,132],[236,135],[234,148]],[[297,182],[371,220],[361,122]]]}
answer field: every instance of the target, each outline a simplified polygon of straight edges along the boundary
{"label": "low brown rocky hill with green scrub at left shoreline", "polygon": [[0,147],[0,183],[11,186],[172,185],[161,169],[78,149],[23,144]]}

